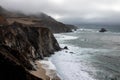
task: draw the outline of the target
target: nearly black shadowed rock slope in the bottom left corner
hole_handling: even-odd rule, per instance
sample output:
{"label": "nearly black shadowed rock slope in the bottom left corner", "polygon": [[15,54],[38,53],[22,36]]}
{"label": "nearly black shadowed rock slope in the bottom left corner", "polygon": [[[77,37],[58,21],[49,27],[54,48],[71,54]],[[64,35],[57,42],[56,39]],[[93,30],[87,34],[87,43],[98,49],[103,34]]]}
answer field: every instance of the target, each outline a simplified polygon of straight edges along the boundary
{"label": "nearly black shadowed rock slope in the bottom left corner", "polygon": [[[14,54],[18,54],[6,45],[0,45],[0,79],[1,80],[42,80],[33,76]],[[18,55],[19,56],[19,55]]]}

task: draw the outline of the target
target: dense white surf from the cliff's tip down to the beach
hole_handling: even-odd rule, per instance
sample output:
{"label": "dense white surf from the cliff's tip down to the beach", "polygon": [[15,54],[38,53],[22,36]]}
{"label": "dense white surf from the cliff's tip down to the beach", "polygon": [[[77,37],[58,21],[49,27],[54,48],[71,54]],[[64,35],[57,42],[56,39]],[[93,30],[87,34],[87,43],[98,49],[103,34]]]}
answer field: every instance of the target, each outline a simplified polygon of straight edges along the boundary
{"label": "dense white surf from the cliff's tip down to the beach", "polygon": [[[67,44],[61,44],[61,46],[65,45]],[[85,58],[86,56],[83,57],[81,55],[81,57],[78,56],[81,59],[75,59],[78,58],[76,54],[80,51],[80,48],[75,46],[73,47],[70,45],[67,46],[69,47],[69,50],[62,50],[56,52],[56,54],[52,56],[51,60],[55,64],[57,72],[60,74],[63,80],[95,80],[87,72],[87,70],[94,69],[92,67],[87,66],[90,65],[89,63],[83,61],[83,58]]]}

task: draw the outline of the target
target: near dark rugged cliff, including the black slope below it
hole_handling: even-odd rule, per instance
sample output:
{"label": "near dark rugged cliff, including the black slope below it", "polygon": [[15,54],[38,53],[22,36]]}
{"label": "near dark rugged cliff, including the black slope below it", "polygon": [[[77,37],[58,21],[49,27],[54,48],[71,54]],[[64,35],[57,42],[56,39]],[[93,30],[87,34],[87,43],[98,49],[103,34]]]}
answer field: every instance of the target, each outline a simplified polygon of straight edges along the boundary
{"label": "near dark rugged cliff, including the black slope below it", "polygon": [[16,22],[0,26],[0,74],[7,76],[4,80],[41,80],[29,73],[36,69],[34,61],[58,50],[59,44],[47,28]]}

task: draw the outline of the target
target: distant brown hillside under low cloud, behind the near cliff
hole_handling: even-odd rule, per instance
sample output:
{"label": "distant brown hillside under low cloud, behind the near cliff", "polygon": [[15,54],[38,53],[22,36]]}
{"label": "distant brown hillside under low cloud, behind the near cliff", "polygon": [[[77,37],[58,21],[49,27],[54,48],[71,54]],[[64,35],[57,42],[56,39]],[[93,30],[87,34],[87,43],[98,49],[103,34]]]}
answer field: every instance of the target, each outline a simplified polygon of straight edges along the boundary
{"label": "distant brown hillside under low cloud, behind the near cliff", "polygon": [[54,33],[71,32],[72,29],[77,29],[73,25],[66,25],[62,22],[58,22],[45,13],[25,15],[19,12],[9,12],[0,7],[0,14],[7,17],[9,24],[19,22],[22,24],[33,25],[34,27],[46,27]]}

